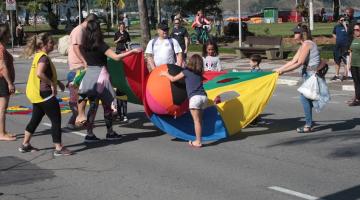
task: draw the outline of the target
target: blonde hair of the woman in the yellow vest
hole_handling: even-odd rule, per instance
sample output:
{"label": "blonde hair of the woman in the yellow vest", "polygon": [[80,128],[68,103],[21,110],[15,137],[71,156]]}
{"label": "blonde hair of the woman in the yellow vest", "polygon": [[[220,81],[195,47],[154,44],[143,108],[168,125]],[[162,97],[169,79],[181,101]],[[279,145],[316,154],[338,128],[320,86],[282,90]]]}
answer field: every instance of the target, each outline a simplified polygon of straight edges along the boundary
{"label": "blonde hair of the woman in the yellow vest", "polygon": [[39,35],[31,36],[26,43],[24,56],[27,58],[32,56],[37,50],[40,50],[49,41],[55,42],[49,33],[40,33]]}

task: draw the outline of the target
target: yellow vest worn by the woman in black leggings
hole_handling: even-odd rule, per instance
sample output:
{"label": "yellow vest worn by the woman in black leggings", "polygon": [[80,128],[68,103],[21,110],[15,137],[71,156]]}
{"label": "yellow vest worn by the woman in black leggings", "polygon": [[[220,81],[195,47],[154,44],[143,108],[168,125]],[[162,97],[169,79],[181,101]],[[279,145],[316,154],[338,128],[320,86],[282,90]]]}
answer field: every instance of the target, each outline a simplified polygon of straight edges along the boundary
{"label": "yellow vest worn by the woman in black leggings", "polygon": [[[31,64],[31,69],[29,73],[28,82],[26,84],[26,96],[31,103],[41,103],[44,99],[40,96],[40,78],[37,76],[38,62],[42,56],[47,56],[45,52],[37,52],[34,55],[34,60]],[[51,72],[52,72],[52,82],[57,84],[57,74],[54,64],[50,62]]]}

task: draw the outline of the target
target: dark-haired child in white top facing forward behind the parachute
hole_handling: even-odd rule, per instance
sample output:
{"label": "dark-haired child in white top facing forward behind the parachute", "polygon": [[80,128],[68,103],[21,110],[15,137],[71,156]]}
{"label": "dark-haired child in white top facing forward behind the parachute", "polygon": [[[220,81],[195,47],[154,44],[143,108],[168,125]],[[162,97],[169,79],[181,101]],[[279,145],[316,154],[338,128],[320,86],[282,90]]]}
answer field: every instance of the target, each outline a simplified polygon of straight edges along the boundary
{"label": "dark-haired child in white top facing forward behind the parachute", "polygon": [[214,41],[209,40],[203,46],[203,59],[204,59],[204,71],[216,71],[222,70],[218,46]]}

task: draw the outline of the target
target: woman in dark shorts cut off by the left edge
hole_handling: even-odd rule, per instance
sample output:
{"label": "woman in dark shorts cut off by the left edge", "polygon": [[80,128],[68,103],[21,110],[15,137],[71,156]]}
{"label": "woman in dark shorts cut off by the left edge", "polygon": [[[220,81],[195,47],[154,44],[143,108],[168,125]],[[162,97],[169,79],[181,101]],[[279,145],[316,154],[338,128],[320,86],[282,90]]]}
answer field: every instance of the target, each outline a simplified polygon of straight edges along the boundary
{"label": "woman in dark shorts cut off by the left edge", "polygon": [[6,50],[10,39],[10,29],[6,24],[0,24],[0,141],[14,141],[16,136],[6,132],[6,109],[10,95],[15,92],[14,59]]}

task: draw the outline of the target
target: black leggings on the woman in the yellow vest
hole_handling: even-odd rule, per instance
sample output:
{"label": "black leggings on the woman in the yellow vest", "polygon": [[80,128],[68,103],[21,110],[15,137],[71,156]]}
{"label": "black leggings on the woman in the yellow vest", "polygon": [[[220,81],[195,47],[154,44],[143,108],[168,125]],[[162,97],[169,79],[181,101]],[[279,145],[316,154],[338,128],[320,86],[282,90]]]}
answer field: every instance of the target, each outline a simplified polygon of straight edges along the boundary
{"label": "black leggings on the woman in the yellow vest", "polygon": [[26,126],[26,131],[33,134],[39,126],[44,115],[48,116],[51,121],[51,136],[54,143],[61,143],[61,113],[59,101],[56,97],[41,102],[33,103],[33,112],[31,120]]}

